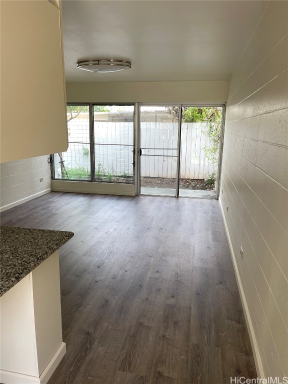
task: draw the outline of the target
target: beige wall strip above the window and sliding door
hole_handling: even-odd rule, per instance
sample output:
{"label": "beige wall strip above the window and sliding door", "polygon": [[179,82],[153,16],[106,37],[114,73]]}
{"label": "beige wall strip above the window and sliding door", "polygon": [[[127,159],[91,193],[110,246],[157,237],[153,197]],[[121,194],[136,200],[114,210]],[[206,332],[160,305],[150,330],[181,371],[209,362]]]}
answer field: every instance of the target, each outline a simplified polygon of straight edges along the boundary
{"label": "beige wall strip above the window and sliding door", "polygon": [[67,102],[223,103],[227,91],[226,80],[66,83]]}

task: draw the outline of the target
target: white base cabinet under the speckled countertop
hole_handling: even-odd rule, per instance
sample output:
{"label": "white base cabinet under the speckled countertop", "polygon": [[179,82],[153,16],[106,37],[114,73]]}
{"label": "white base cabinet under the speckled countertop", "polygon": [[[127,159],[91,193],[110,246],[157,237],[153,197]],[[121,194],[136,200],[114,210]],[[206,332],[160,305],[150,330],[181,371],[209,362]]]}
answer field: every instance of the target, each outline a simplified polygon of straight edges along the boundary
{"label": "white base cabinet under the speckled countertop", "polygon": [[65,354],[55,251],[0,298],[0,382],[46,384]]}

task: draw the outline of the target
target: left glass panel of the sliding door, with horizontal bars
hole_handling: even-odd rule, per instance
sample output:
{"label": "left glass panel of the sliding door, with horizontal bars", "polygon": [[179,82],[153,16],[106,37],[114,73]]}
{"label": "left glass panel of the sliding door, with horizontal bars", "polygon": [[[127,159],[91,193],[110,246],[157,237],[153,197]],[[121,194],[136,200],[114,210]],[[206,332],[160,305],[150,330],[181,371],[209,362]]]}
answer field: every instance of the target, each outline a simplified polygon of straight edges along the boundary
{"label": "left glass panel of the sliding door, with horizontal bars", "polygon": [[175,196],[178,112],[175,106],[140,106],[140,193]]}

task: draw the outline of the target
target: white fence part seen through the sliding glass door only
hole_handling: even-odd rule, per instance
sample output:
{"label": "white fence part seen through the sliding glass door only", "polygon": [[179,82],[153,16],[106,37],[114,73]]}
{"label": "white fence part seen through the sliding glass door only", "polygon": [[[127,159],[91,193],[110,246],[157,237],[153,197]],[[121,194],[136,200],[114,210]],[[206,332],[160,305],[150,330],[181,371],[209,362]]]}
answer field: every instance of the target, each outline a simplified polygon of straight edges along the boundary
{"label": "white fence part seen through the sliding glass door only", "polygon": [[[213,166],[205,157],[209,146],[203,122],[182,123],[180,178],[206,178]],[[141,123],[141,176],[176,177],[178,123]],[[158,149],[150,149],[158,148]],[[170,157],[172,156],[172,157]]]}

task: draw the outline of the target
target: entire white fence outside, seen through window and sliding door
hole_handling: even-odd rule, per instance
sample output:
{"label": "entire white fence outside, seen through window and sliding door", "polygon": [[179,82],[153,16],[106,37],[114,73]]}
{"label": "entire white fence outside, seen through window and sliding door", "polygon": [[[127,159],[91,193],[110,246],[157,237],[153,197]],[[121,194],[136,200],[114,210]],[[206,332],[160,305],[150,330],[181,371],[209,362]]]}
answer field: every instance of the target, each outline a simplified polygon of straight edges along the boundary
{"label": "entire white fence outside, seen through window and sliding door", "polygon": [[[181,178],[202,179],[213,171],[203,150],[204,145],[209,146],[205,132],[206,124],[203,122],[182,123]],[[88,120],[81,118],[69,122],[69,142],[68,151],[63,153],[65,166],[89,168]],[[133,174],[132,122],[96,122],[94,142],[96,172],[100,169],[114,175]],[[141,122],[141,176],[176,177],[177,142],[177,122]],[[55,170],[59,172],[56,164]]]}

